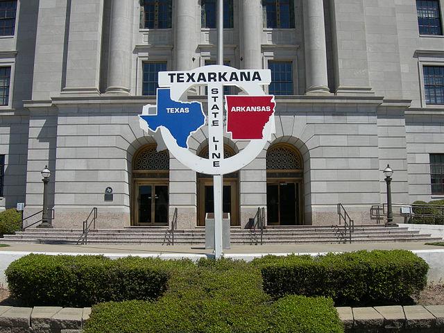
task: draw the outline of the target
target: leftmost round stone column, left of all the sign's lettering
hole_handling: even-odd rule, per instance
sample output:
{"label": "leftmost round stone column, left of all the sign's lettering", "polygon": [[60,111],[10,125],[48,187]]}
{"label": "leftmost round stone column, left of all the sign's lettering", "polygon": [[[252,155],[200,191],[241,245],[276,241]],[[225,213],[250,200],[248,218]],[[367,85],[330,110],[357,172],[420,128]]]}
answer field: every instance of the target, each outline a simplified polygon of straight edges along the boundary
{"label": "leftmost round stone column, left of all the sign's lettering", "polygon": [[130,93],[133,3],[112,0],[107,93]]}

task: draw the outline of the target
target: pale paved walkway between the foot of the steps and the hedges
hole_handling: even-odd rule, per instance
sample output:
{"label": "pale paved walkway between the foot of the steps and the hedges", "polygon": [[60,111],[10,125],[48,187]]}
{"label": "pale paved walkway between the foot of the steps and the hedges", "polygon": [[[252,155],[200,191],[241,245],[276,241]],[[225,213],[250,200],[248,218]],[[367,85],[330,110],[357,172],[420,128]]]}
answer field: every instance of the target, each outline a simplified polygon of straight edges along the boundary
{"label": "pale paved walkway between the foot of the steps and the hedges", "polygon": [[[0,240],[1,243],[1,240]],[[444,246],[429,246],[422,242],[409,243],[359,243],[359,244],[280,244],[280,245],[257,245],[257,246],[232,246],[225,250],[227,255],[232,254],[263,254],[263,253],[326,253],[326,252],[348,252],[356,250],[444,250]],[[203,246],[162,246],[162,245],[63,245],[63,244],[11,244],[0,248],[1,252],[45,252],[45,253],[119,253],[119,254],[197,254],[210,255],[212,250],[205,250]]]}

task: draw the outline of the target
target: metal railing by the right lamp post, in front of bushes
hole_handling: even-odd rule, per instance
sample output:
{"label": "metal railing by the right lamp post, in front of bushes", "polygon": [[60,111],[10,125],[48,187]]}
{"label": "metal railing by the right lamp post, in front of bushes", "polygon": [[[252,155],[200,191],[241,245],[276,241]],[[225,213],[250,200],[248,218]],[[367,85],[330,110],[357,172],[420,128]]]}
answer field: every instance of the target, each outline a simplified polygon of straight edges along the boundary
{"label": "metal railing by the right lamp post, in front of bushes", "polygon": [[[444,224],[444,206],[392,203],[393,216],[402,217],[404,223]],[[373,205],[370,208],[370,219],[382,221],[387,216],[387,204]]]}

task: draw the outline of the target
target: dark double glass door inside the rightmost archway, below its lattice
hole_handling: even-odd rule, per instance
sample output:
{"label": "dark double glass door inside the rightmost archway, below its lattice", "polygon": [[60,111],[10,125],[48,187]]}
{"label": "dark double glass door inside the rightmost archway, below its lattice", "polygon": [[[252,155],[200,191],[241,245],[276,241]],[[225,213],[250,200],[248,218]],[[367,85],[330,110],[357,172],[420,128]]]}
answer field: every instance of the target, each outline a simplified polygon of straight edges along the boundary
{"label": "dark double glass door inside the rightmost archway, below its lattice", "polygon": [[267,225],[300,225],[300,182],[268,182]]}

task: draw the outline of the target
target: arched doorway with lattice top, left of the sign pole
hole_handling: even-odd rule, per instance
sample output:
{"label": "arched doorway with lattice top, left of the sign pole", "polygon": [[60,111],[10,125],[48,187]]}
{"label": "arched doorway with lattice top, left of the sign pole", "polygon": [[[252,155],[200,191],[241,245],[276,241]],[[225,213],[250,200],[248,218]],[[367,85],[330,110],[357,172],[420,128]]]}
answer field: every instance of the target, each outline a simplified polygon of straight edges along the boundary
{"label": "arched doorway with lattice top, left of the sign pole", "polygon": [[144,146],[133,159],[133,225],[168,225],[169,153]]}

